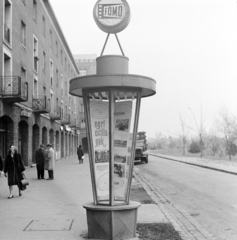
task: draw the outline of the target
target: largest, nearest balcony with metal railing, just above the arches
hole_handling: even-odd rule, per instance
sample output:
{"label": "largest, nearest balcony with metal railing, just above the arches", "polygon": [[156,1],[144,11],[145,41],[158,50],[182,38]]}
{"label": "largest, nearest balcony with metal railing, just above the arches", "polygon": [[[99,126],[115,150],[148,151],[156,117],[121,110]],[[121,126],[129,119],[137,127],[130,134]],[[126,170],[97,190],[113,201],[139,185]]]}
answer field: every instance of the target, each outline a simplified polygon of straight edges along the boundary
{"label": "largest, nearest balcony with metal railing, just above the arches", "polygon": [[0,98],[9,103],[28,101],[28,83],[19,76],[2,76]]}

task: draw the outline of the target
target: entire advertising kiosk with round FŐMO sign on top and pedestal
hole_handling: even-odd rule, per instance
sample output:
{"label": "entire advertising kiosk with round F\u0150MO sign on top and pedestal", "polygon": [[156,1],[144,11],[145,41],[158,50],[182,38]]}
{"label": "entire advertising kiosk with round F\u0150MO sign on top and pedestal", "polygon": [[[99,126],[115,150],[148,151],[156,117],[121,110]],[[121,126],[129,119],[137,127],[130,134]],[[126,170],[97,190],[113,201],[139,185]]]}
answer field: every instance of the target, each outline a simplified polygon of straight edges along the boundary
{"label": "entire advertising kiosk with round F\u0150MO sign on top and pedestal", "polygon": [[[100,20],[106,17],[107,25],[100,28],[106,30],[108,36],[116,35],[130,20],[129,6],[126,1],[103,2],[96,3],[94,18],[97,25],[103,25]],[[112,17],[108,26],[112,11],[118,15],[116,19],[124,17],[126,20],[113,23]],[[129,59],[124,54],[102,54],[96,59],[95,75],[70,81],[70,94],[83,97],[85,107],[94,201],[84,204],[84,208],[89,238],[127,239],[135,237],[140,206],[130,201],[129,196],[141,98],[155,94],[156,82],[149,77],[129,74]]]}

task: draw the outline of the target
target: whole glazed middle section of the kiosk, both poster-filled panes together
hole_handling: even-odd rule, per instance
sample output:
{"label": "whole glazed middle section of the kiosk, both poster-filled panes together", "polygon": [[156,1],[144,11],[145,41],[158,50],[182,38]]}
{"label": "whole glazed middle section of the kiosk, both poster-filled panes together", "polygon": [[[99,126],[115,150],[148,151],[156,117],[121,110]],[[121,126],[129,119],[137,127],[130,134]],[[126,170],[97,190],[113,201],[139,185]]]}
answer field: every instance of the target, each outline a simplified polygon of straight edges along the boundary
{"label": "whole glazed middle section of the kiosk, both poster-filled panes together", "polygon": [[[84,95],[86,116],[89,119],[87,133],[94,202],[103,205],[127,204],[140,89],[100,90],[90,90]],[[111,104],[110,100],[113,101]]]}

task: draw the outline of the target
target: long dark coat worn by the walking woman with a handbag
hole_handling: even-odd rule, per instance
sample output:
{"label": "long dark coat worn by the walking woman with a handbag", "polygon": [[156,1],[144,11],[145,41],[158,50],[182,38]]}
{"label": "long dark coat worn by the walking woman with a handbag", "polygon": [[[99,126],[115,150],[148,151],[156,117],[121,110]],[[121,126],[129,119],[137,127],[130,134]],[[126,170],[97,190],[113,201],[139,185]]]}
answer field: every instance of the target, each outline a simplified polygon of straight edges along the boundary
{"label": "long dark coat worn by the walking woman with a handbag", "polygon": [[17,185],[19,189],[23,190],[21,180],[22,172],[25,171],[25,166],[22,162],[21,155],[15,151],[13,157],[9,152],[6,156],[4,173],[7,173],[8,185]]}

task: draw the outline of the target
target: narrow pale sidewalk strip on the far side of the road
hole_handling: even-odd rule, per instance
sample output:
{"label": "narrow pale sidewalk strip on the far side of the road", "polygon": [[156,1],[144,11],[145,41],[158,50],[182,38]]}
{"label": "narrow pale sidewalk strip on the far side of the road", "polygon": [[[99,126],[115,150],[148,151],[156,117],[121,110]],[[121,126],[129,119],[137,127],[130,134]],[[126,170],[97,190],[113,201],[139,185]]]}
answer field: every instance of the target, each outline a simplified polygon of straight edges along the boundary
{"label": "narrow pale sidewalk strip on the far side of the road", "polygon": [[237,175],[237,162],[234,162],[231,160],[226,161],[226,160],[214,160],[214,159],[207,159],[207,158],[171,156],[171,155],[163,155],[160,153],[152,153],[152,152],[149,152],[149,155]]}

